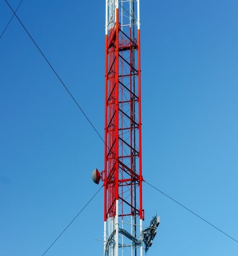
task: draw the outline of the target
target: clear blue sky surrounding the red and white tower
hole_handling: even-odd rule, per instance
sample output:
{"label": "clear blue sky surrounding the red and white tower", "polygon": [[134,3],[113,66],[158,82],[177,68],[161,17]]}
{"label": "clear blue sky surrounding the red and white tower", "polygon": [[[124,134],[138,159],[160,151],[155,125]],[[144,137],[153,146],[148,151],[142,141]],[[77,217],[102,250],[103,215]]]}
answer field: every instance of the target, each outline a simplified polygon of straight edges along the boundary
{"label": "clear blue sky surrounding the red and white tower", "polygon": [[[17,8],[20,0],[9,0]],[[18,15],[104,131],[105,1],[24,0]],[[141,1],[143,175],[238,239],[238,2]],[[12,13],[0,1],[0,32]],[[41,256],[99,188],[103,143],[16,18],[0,40],[0,255]],[[238,244],[144,184],[148,256]],[[48,256],[102,255],[103,193]]]}

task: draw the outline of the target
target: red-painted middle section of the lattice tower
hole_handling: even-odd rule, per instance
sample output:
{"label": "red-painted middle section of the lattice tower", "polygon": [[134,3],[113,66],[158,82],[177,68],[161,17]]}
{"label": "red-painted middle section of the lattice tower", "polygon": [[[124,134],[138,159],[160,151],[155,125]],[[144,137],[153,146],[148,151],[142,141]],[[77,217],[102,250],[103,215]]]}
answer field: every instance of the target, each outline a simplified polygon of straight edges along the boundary
{"label": "red-painted middle section of the lattice tower", "polygon": [[140,30],[137,38],[122,31],[116,9],[105,41],[104,220],[116,215],[116,200],[121,219],[143,219]]}

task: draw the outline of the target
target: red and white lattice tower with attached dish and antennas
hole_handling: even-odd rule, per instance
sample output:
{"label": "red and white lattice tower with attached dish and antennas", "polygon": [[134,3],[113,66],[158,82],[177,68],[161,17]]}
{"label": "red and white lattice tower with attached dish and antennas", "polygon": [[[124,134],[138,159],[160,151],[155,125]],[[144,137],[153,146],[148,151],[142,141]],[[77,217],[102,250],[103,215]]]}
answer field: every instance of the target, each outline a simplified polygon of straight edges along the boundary
{"label": "red and white lattice tower with attached dish and antennas", "polygon": [[140,1],[106,0],[104,256],[142,256],[159,219],[142,229]]}

